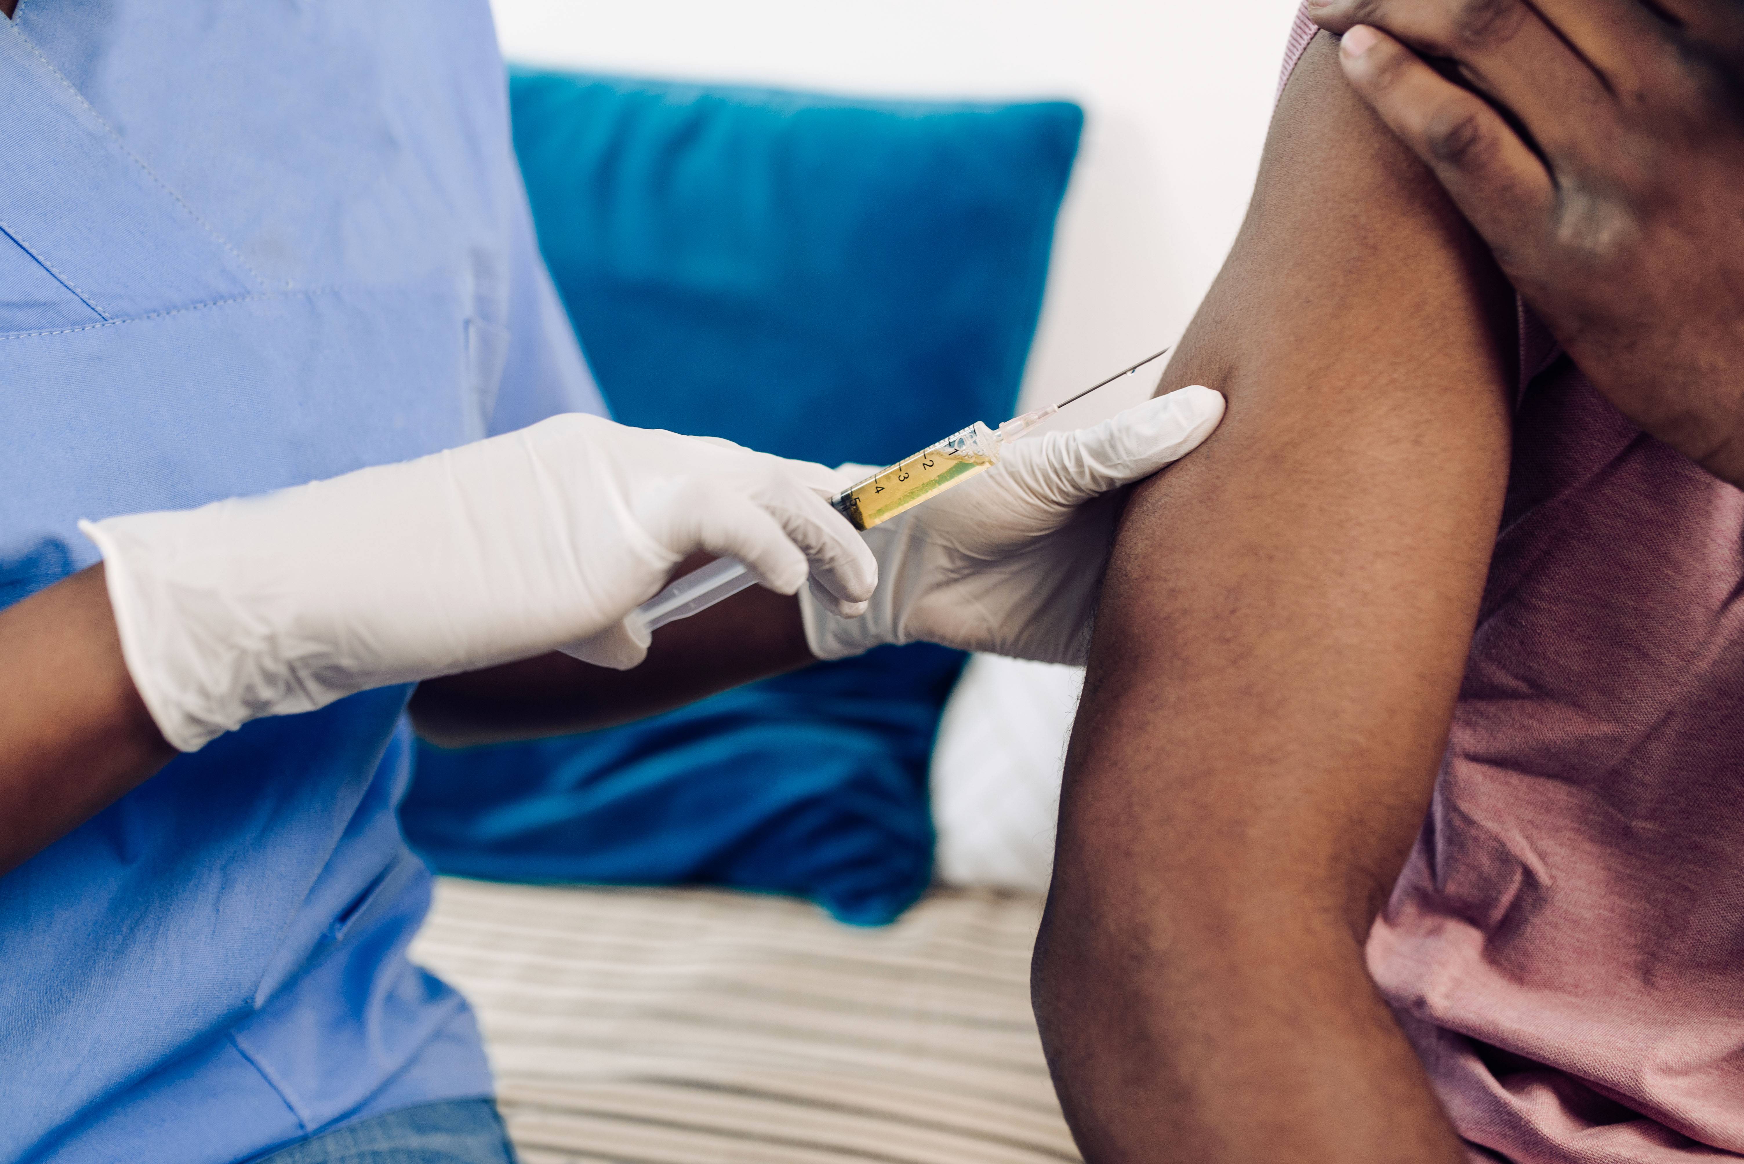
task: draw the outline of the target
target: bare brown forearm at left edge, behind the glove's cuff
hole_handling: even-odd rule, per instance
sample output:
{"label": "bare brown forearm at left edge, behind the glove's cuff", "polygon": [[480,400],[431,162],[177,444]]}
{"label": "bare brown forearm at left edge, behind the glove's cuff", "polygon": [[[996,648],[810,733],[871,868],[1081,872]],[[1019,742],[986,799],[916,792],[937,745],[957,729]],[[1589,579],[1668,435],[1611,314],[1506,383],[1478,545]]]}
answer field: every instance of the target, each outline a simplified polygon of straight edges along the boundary
{"label": "bare brown forearm at left edge, behind the glove's cuff", "polygon": [[0,612],[0,873],[174,755],[127,678],[101,565]]}

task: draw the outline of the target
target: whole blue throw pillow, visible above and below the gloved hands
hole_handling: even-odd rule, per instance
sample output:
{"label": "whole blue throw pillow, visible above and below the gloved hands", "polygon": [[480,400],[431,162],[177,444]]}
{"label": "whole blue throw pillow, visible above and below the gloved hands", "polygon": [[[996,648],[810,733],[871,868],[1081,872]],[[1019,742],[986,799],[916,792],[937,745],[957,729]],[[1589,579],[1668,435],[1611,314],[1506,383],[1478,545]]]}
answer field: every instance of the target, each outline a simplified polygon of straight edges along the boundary
{"label": "whole blue throw pillow, visible above and below the gloved hands", "polygon": [[[539,246],[612,415],[835,464],[1012,413],[1074,105],[844,101],[511,71]],[[931,875],[963,657],[903,646],[605,732],[422,746],[439,870],[708,882],[888,922]]]}

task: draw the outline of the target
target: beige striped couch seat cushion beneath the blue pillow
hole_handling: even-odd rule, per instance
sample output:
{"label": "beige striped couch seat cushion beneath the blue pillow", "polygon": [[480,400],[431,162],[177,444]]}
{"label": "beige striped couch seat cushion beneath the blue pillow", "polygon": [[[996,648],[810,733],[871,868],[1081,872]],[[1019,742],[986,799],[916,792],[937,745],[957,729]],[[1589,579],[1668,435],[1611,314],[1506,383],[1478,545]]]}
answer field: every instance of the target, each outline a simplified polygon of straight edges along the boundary
{"label": "beige striped couch seat cushion beneath the blue pillow", "polygon": [[525,1164],[1071,1162],[1038,918],[935,890],[848,929],[787,897],[443,878],[413,957],[478,1009]]}

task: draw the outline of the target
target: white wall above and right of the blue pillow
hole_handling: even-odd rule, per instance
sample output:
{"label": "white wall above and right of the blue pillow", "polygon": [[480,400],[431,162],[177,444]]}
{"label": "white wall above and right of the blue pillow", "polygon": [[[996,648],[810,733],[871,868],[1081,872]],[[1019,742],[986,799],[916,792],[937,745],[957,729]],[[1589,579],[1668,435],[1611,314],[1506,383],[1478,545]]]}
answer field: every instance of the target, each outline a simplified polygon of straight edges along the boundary
{"label": "white wall above and right of the blue pillow", "polygon": [[[1296,0],[494,0],[509,59],[1088,115],[1025,399],[1186,326],[1252,186]],[[1100,409],[1097,409],[1100,411]],[[992,420],[992,418],[989,418]]]}

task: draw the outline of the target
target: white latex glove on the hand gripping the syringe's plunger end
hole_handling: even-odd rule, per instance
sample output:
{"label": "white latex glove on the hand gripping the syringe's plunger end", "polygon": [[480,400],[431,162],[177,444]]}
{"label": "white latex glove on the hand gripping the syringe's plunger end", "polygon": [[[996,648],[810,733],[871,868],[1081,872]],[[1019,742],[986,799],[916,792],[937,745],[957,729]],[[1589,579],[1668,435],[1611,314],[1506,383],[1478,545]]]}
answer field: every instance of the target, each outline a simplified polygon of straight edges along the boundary
{"label": "white latex glove on the hand gripping the syringe's plunger end", "polygon": [[856,613],[877,566],[823,465],[586,415],[201,509],[80,523],[127,671],[183,751],[267,714],[548,650],[633,667],[696,551]]}

